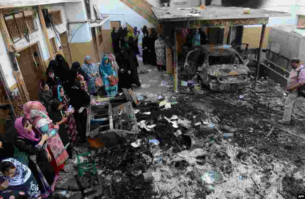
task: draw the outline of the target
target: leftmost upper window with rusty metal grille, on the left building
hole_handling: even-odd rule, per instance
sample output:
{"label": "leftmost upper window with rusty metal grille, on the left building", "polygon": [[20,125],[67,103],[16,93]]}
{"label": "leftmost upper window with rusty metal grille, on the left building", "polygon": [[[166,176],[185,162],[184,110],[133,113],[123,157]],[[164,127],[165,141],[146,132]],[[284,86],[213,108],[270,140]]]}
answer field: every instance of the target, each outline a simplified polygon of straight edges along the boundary
{"label": "leftmost upper window with rusty metal grille, on the left building", "polygon": [[32,15],[23,17],[14,17],[12,19],[5,19],[6,27],[12,39],[23,37],[25,34],[34,33],[38,31],[36,19]]}

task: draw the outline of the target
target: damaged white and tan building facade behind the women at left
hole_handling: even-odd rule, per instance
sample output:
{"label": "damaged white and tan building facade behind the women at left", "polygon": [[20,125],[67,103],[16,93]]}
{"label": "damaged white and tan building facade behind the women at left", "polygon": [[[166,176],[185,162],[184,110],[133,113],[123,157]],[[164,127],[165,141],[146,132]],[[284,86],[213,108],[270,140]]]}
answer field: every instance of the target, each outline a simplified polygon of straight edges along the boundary
{"label": "damaged white and tan building facade behind the women at left", "polygon": [[62,54],[70,67],[74,61],[83,63],[86,55],[95,62],[101,59],[108,42],[102,30],[110,29],[108,20],[91,1],[0,4],[2,128],[5,119],[23,114],[24,103],[38,100],[39,82],[56,54]]}

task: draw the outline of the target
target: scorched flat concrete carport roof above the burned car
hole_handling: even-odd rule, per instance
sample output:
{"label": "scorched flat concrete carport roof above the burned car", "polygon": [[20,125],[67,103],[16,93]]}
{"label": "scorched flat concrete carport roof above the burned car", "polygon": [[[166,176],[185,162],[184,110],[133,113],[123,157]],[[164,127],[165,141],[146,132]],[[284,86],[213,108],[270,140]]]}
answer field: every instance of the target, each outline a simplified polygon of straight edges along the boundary
{"label": "scorched flat concrete carport roof above the burned car", "polygon": [[[249,14],[244,14],[241,7],[222,7],[209,5],[205,9],[200,7],[152,7],[152,12],[165,27],[174,29],[223,27],[267,24],[269,17],[291,16],[290,13],[261,9],[250,9]],[[196,9],[196,12],[191,13]]]}

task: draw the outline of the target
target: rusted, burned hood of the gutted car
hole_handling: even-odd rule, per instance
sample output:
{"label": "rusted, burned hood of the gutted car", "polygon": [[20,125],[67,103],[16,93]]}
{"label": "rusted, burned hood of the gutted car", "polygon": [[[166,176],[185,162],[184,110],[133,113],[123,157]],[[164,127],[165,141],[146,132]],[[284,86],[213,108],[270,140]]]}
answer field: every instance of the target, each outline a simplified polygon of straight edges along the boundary
{"label": "rusted, burned hood of the gutted car", "polygon": [[223,65],[209,66],[207,72],[211,76],[224,77],[224,76],[232,76],[232,75],[248,75],[250,70],[247,66],[243,64],[239,64],[239,65],[223,64]]}

